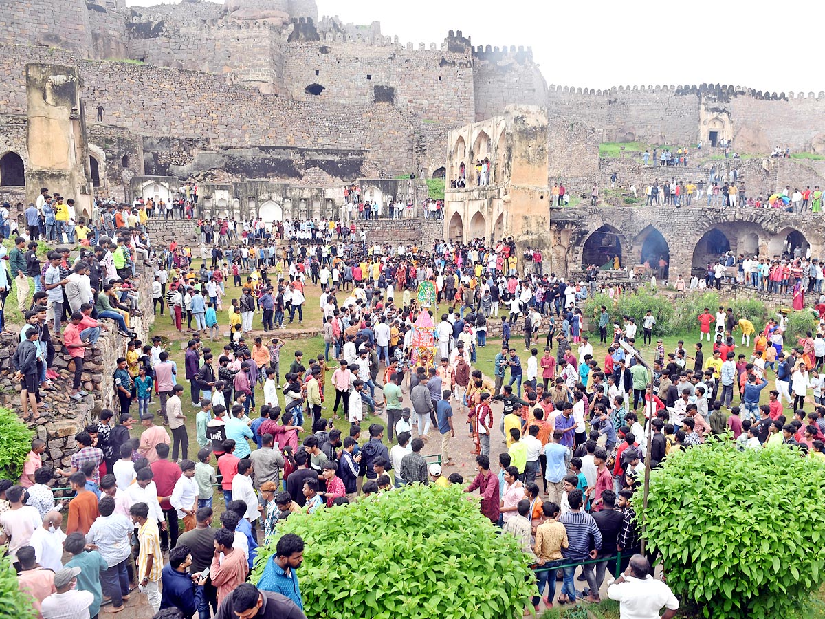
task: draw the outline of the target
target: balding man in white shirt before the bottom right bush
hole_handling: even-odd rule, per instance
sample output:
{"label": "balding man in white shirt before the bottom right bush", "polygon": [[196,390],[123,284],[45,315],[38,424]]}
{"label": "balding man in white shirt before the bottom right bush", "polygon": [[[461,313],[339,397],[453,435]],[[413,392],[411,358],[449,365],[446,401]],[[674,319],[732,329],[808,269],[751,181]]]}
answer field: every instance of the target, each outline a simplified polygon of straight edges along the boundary
{"label": "balding man in white shirt before the bottom right bush", "polygon": [[630,564],[607,588],[607,597],[620,603],[622,619],[654,619],[666,607],[662,619],[676,617],[679,601],[670,587],[650,575],[650,564],[643,555],[630,557]]}

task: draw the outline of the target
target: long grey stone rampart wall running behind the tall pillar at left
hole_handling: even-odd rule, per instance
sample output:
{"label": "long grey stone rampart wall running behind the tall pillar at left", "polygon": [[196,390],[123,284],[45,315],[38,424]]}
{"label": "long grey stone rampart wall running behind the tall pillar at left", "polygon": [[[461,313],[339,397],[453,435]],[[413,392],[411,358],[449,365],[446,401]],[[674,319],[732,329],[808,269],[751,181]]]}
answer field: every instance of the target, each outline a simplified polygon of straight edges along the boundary
{"label": "long grey stone rampart wall running behind the tall pillar at left", "polygon": [[[368,151],[382,170],[412,168],[417,119],[395,106],[323,106],[289,102],[230,86],[209,73],[150,65],[84,60],[47,48],[0,45],[0,107],[26,113],[25,64],[47,62],[80,69],[90,109],[135,135],[196,136],[221,146],[293,146]],[[93,123],[92,123],[93,125]]]}

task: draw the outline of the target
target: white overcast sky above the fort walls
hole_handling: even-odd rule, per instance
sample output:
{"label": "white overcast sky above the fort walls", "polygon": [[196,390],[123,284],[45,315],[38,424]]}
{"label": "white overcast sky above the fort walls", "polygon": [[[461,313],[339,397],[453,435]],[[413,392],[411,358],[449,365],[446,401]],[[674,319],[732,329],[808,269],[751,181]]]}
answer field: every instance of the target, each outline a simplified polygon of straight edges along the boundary
{"label": "white overcast sky above the fort walls", "polygon": [[[387,2],[317,0],[318,15],[381,22],[384,35],[440,44],[450,30],[473,45],[533,48],[549,84],[605,88],[620,85],[727,83],[775,92],[819,92],[821,37],[791,25],[811,23],[810,2],[785,0],[775,30],[762,2]],[[129,6],[158,0],[126,0]],[[735,25],[735,28],[731,26]],[[819,41],[819,42],[818,42]],[[427,45],[429,46],[429,45]]]}

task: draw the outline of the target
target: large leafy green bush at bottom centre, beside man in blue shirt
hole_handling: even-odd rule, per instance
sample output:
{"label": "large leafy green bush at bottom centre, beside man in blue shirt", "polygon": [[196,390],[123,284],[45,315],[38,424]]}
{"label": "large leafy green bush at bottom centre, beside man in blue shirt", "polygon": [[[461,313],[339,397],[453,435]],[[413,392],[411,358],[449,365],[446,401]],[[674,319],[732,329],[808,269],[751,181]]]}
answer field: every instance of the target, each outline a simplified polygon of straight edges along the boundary
{"label": "large leafy green bush at bottom centre, beside man in blue shirt", "polygon": [[[515,538],[499,535],[458,485],[403,490],[295,514],[279,529],[306,543],[300,569],[312,619],[521,617],[535,577]],[[274,553],[258,552],[257,583]]]}

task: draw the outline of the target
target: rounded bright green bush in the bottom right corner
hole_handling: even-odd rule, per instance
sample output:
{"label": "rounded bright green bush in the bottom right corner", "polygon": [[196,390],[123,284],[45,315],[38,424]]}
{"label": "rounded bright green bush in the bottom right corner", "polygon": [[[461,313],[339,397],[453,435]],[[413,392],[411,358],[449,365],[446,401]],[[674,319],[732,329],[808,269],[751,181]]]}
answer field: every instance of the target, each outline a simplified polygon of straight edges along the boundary
{"label": "rounded bright green bush in the bottom right corner", "polygon": [[821,461],[725,441],[653,471],[643,516],[676,597],[705,617],[773,619],[825,580],[823,503]]}

